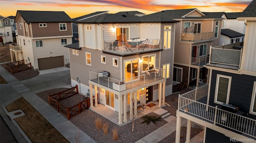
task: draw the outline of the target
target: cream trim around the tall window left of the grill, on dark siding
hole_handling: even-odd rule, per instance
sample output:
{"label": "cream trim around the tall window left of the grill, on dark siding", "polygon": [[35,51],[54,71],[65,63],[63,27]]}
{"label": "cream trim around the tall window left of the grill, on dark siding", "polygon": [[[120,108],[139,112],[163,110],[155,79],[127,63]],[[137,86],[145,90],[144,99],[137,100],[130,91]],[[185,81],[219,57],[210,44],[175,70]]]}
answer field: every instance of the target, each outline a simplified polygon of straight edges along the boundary
{"label": "cream trim around the tall window left of the grill, on dark siding", "polygon": [[222,102],[217,101],[217,100],[218,100],[218,88],[219,88],[219,80],[220,80],[220,77],[222,77],[222,78],[228,78],[228,91],[227,91],[227,99],[226,99],[226,104],[228,104],[228,102],[229,102],[229,95],[230,95],[230,88],[231,88],[232,76],[226,76],[226,75],[222,75],[222,74],[217,74],[217,77],[216,77],[214,103],[216,103],[216,104],[223,104]]}

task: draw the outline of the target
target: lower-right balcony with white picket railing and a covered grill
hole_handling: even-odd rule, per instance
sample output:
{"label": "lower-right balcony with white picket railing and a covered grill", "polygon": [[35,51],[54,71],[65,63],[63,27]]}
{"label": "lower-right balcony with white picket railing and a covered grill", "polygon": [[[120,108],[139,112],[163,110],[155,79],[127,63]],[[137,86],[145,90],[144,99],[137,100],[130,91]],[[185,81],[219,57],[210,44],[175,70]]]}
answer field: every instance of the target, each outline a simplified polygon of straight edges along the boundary
{"label": "lower-right balcony with white picket railing and a covered grill", "polygon": [[179,95],[178,111],[218,127],[242,134],[246,137],[256,137],[256,120],[246,117],[241,111],[235,113],[222,110],[222,105],[207,105],[208,84]]}

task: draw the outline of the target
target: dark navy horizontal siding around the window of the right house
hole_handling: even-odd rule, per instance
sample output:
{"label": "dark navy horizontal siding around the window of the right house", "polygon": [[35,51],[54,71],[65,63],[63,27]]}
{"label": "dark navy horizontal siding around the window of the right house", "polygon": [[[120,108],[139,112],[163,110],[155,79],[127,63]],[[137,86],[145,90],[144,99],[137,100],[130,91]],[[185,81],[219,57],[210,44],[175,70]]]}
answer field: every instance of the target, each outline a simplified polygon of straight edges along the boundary
{"label": "dark navy horizontal siding around the window of the right house", "polygon": [[210,89],[210,103],[209,103],[211,106],[218,105],[214,103],[217,74],[222,74],[222,75],[232,77],[229,104],[237,106],[240,111],[249,113],[250,103],[252,99],[253,84],[254,84],[254,81],[256,81],[256,77],[245,75],[245,74],[241,75],[241,74],[233,74],[229,72],[213,70],[212,80],[211,80],[211,89]]}

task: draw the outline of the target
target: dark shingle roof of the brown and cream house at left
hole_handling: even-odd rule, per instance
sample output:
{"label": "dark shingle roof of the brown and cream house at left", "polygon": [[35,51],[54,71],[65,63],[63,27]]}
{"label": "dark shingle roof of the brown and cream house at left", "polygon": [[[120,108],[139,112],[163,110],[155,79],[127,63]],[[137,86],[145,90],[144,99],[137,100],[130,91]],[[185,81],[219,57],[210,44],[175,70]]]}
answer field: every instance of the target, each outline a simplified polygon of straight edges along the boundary
{"label": "dark shingle roof of the brown and cream house at left", "polygon": [[73,22],[65,13],[58,11],[25,11],[18,10],[16,16],[20,14],[27,23],[33,22]]}

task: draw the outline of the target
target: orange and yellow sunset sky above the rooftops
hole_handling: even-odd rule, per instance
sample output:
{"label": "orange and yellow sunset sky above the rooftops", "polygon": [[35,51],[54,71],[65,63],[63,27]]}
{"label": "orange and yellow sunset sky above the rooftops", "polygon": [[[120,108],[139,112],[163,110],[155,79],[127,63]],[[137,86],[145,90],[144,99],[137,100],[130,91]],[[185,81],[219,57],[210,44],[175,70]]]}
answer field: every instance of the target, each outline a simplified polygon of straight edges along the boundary
{"label": "orange and yellow sunset sky above the rooftops", "polygon": [[252,0],[0,0],[0,15],[15,16],[17,10],[64,11],[76,18],[96,11],[139,11],[198,8],[202,12],[242,12]]}

